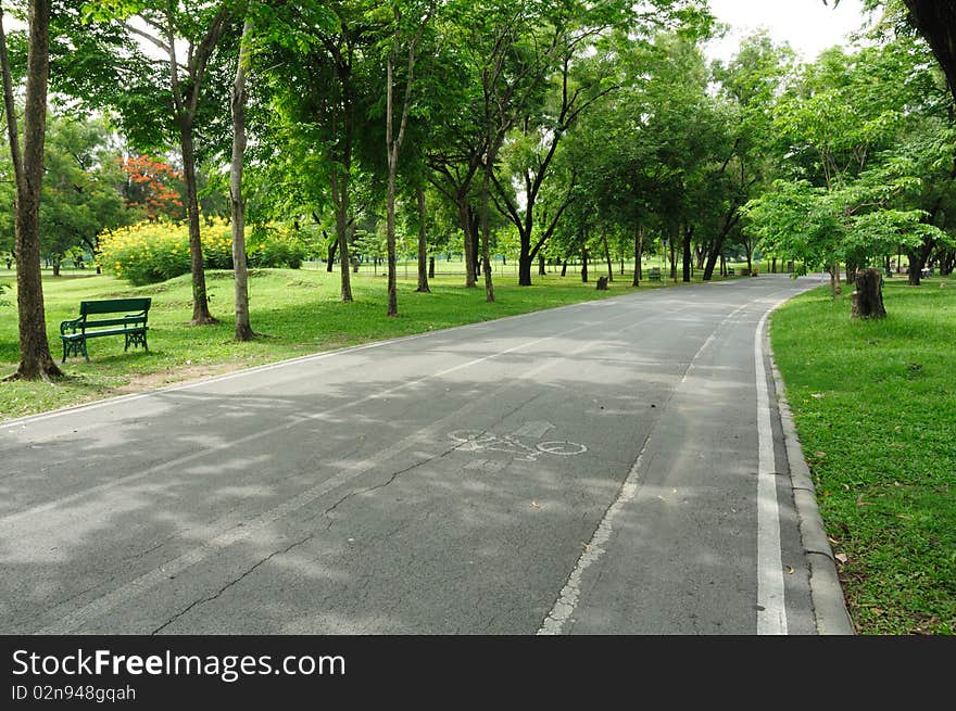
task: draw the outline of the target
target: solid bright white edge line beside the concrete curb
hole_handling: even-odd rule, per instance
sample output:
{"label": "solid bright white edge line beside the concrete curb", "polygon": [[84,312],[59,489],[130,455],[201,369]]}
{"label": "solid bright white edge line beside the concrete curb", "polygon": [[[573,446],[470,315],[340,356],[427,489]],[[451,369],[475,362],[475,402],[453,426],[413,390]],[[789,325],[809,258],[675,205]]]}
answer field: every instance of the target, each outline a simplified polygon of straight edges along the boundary
{"label": "solid bright white edge line beside the concrete curb", "polygon": [[[779,305],[779,304],[778,304]],[[780,550],[780,507],[777,503],[777,467],[773,461],[773,431],[770,427],[770,393],[764,368],[764,326],[770,308],[754,334],[757,381],[757,634],[785,635],[787,606],[783,599],[783,560]]]}

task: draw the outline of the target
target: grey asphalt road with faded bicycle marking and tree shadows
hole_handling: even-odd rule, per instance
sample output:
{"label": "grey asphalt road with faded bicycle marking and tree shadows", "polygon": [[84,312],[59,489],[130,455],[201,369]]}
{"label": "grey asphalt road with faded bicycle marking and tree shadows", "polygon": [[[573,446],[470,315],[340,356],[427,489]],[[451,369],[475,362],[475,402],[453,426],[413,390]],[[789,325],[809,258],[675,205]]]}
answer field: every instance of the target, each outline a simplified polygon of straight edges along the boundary
{"label": "grey asphalt road with faded bicycle marking and tree shadows", "polygon": [[621,293],[0,426],[0,633],[814,634],[758,329],[817,283]]}

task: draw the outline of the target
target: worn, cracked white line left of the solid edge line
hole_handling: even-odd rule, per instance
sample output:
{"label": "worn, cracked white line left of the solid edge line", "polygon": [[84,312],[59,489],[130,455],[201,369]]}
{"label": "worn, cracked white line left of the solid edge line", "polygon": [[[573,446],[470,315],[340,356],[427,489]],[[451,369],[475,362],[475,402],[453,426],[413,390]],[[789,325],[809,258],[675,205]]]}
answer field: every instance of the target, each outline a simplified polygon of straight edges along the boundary
{"label": "worn, cracked white line left of the solid edge line", "polygon": [[[667,398],[667,403],[664,404],[664,410],[667,409],[667,404],[670,402],[670,398],[674,397],[674,394],[677,393],[678,389],[683,385],[688,378],[690,377],[691,371],[694,368],[694,364],[701,357],[701,354],[704,353],[710,344],[717,340],[717,333],[724,328],[725,323],[730,321],[734,316],[744,310],[751,303],[746,303],[743,306],[734,309],[732,313],[728,314],[720,323],[714,329],[710,335],[704,341],[701,347],[697,350],[696,354],[693,358],[691,358],[690,364],[684,370],[683,377],[680,379],[680,382],[674,389],[674,393],[671,393],[670,397]],[[658,420],[659,422],[661,420]],[[656,427],[654,428],[656,430]],[[624,484],[621,484],[620,491],[618,492],[617,498],[607,508],[607,511],[604,513],[604,518],[601,519],[601,522],[598,524],[598,529],[594,531],[594,534],[591,536],[591,539],[588,542],[588,545],[584,546],[584,553],[578,558],[578,562],[575,564],[571,574],[568,576],[567,583],[565,583],[564,587],[561,589],[561,593],[557,595],[557,600],[554,602],[554,606],[551,608],[551,611],[544,617],[544,621],[541,623],[541,626],[538,629],[539,635],[559,635],[564,633],[565,625],[575,614],[577,610],[578,602],[580,601],[581,596],[581,581],[584,575],[584,571],[588,570],[595,562],[601,560],[607,549],[605,545],[611,539],[611,535],[614,532],[614,519],[618,515],[618,512],[624,509],[628,504],[630,504],[638,494],[638,490],[640,488],[640,471],[642,465],[644,462],[644,453],[647,450],[647,447],[651,444],[651,436],[654,433],[652,430],[651,434],[647,435],[647,439],[644,440],[644,444],[641,447],[641,452],[638,455],[638,458],[634,460],[634,464],[631,466],[628,471],[627,477],[624,480]]]}

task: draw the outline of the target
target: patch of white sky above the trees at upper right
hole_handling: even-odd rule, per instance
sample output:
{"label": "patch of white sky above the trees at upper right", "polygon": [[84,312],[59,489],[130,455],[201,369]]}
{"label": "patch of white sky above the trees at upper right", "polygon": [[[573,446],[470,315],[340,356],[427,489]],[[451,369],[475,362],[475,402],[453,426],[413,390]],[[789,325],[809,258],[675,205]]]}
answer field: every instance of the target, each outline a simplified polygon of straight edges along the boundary
{"label": "patch of white sky above the trees at upper right", "polygon": [[730,59],[741,40],[764,27],[777,41],[788,41],[807,62],[825,49],[845,43],[848,33],[860,28],[867,17],[861,0],[841,0],[833,8],[830,0],[710,0],[718,21],[733,26],[722,40],[707,48],[712,59]]}

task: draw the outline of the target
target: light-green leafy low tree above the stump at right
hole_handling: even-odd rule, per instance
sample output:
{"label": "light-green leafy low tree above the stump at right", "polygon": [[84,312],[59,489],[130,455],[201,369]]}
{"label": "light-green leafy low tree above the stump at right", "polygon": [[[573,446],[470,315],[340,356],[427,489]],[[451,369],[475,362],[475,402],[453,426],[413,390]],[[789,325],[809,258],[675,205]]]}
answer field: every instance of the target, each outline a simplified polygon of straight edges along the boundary
{"label": "light-green leafy low tree above the stump at right", "polygon": [[935,109],[917,49],[901,38],[831,50],[808,67],[777,123],[793,174],[746,206],[746,229],[802,262],[797,272],[827,266],[834,296],[840,262],[852,276],[902,245],[918,272],[919,250],[951,242],[934,224],[943,203],[930,186],[952,186],[952,137],[926,134]]}

